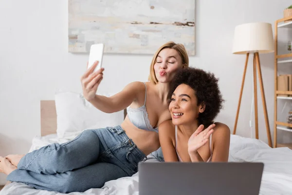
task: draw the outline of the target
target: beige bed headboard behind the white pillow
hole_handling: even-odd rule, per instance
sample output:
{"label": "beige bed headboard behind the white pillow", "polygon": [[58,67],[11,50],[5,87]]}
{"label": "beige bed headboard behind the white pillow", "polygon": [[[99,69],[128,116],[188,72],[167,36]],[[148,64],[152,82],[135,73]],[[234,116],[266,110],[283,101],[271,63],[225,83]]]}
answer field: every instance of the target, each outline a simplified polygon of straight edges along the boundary
{"label": "beige bed headboard behind the white pillow", "polygon": [[[124,110],[124,119],[127,110]],[[40,135],[55,134],[57,129],[57,114],[55,100],[40,100]]]}

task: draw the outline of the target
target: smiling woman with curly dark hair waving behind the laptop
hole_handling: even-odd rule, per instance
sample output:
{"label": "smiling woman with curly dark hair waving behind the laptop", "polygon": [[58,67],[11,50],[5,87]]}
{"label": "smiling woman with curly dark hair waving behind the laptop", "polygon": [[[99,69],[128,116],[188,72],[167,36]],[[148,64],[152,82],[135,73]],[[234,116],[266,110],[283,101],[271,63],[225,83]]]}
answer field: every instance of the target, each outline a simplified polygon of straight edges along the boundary
{"label": "smiling woman with curly dark hair waving behind the laptop", "polygon": [[230,129],[213,121],[224,101],[214,74],[198,68],[179,70],[168,99],[172,120],[159,126],[164,161],[228,161]]}

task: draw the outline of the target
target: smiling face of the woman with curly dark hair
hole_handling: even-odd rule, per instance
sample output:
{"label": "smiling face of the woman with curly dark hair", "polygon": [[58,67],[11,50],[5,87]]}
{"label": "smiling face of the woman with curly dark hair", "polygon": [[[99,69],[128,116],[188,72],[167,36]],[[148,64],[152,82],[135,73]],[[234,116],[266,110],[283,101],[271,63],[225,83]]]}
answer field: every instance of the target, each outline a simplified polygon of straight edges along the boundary
{"label": "smiling face of the woman with curly dark hair", "polygon": [[186,84],[181,84],[175,89],[168,108],[174,125],[195,122],[199,113],[204,112],[204,106],[198,105],[195,91]]}

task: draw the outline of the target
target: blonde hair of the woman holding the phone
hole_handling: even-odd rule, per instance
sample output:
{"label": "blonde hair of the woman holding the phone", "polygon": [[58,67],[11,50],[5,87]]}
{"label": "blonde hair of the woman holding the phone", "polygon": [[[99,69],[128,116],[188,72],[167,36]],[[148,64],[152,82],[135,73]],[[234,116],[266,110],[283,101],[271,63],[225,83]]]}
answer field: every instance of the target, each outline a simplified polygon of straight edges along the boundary
{"label": "blonde hair of the woman holding the phone", "polygon": [[151,65],[150,65],[150,74],[148,77],[148,81],[150,81],[153,84],[157,84],[158,80],[155,76],[155,71],[154,71],[154,64],[156,63],[156,58],[158,56],[158,54],[161,52],[161,50],[165,49],[165,48],[170,48],[170,49],[175,49],[179,55],[182,58],[182,64],[183,67],[186,68],[189,66],[189,62],[188,62],[188,55],[187,52],[185,50],[185,47],[183,46],[183,44],[181,43],[175,43],[173,41],[169,41],[167,43],[165,43],[164,45],[162,45],[154,54],[153,59],[151,61]]}

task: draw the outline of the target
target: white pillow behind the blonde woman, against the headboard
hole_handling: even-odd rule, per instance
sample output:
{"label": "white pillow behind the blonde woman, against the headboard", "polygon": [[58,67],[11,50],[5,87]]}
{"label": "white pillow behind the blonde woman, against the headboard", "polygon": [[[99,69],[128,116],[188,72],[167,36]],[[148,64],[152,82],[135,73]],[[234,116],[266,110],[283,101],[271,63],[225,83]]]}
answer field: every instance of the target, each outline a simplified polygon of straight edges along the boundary
{"label": "white pillow behind the blonde woman, against the headboard", "polygon": [[104,113],[80,93],[56,93],[55,106],[58,138],[73,139],[86,129],[112,127],[120,125],[124,120],[123,110],[111,114]]}

